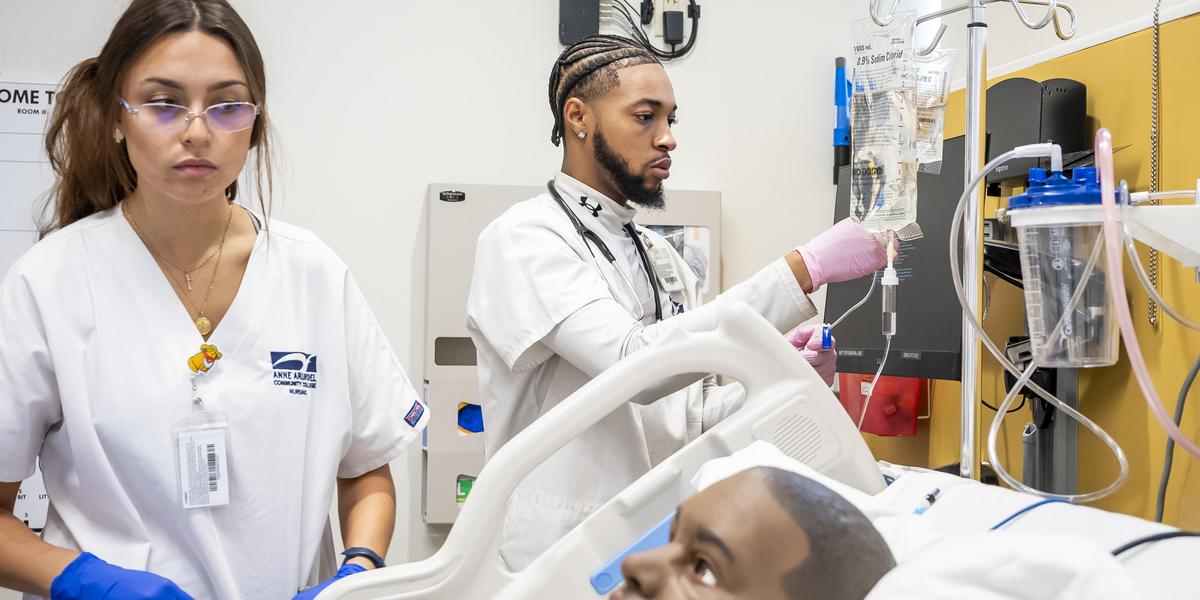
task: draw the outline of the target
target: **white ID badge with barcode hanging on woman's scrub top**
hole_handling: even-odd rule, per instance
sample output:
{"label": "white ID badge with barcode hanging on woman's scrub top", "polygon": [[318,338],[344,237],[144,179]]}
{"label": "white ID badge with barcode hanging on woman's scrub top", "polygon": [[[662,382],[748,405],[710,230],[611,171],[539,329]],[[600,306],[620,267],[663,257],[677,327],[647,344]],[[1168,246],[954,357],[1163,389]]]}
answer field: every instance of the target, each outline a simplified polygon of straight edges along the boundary
{"label": "white ID badge with barcode hanging on woman's scrub top", "polygon": [[224,413],[197,409],[172,427],[179,500],[185,509],[229,504],[229,424]]}

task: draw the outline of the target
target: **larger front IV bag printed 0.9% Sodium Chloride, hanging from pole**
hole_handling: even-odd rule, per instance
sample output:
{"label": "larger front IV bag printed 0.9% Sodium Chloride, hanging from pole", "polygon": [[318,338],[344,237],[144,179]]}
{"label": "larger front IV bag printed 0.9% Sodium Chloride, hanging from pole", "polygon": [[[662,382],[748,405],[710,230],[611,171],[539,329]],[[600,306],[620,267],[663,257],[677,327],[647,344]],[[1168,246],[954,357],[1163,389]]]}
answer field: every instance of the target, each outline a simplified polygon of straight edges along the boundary
{"label": "larger front IV bag printed 0.9% Sodium Chloride, hanging from pole", "polygon": [[869,232],[917,220],[916,20],[906,12],[886,28],[854,22],[850,214]]}

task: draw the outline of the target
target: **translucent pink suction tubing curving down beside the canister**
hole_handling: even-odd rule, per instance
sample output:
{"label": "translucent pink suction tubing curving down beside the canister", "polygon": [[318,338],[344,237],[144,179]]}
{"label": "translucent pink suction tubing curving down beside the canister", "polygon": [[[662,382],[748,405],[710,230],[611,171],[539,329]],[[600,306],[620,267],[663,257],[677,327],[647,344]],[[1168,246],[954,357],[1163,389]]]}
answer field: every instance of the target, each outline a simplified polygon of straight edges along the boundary
{"label": "translucent pink suction tubing curving down beside the canister", "polygon": [[1146,371],[1146,360],[1141,355],[1141,346],[1133,330],[1133,318],[1129,316],[1129,305],[1126,300],[1124,271],[1122,270],[1121,235],[1123,233],[1117,216],[1116,188],[1112,185],[1112,136],[1105,128],[1096,132],[1096,167],[1100,173],[1100,196],[1104,206],[1104,245],[1106,248],[1105,260],[1109,263],[1109,292],[1112,294],[1112,307],[1121,326],[1121,338],[1124,340],[1126,352],[1129,354],[1129,365],[1138,377],[1142,397],[1150,406],[1150,412],[1158,419],[1158,424],[1188,454],[1200,457],[1200,448],[1184,436],[1166,414],[1166,408],[1163,407],[1163,401],[1158,397],[1158,390],[1154,389],[1154,383]]}

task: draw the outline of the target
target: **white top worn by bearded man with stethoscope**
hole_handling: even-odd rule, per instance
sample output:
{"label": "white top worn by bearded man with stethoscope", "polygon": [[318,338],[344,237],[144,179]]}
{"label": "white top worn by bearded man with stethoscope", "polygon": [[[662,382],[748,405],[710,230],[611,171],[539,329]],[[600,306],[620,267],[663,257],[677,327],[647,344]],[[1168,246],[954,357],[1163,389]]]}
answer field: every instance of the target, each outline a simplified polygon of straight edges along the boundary
{"label": "white top worn by bearded man with stethoscope", "polygon": [[[683,292],[661,294],[664,322],[655,323],[649,282],[623,229],[636,210],[563,173],[554,180],[566,205],[605,240],[616,262],[584,245],[548,192],[515,204],[480,235],[467,328],[478,353],[488,458],[622,358],[673,328],[715,319],[713,305],[700,305],[700,282],[683,258],[638,227],[652,246],[670,250],[684,280]],[[581,198],[600,210],[584,208]],[[750,305],[780,331],[816,314],[782,258],[713,304],[730,301]],[[509,568],[523,569],[742,402],[739,384],[719,386],[709,377],[653,403],[626,403],[612,412],[534,469],[510,498],[500,545]]]}

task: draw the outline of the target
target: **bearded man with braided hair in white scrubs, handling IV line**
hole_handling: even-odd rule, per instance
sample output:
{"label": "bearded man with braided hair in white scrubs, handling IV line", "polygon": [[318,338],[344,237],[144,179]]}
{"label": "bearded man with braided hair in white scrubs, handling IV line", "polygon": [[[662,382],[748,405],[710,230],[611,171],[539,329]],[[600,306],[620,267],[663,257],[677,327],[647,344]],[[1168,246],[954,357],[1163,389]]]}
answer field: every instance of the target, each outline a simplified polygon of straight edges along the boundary
{"label": "bearded man with braided hair in white scrubs, handling IV line", "polygon": [[[661,236],[634,224],[662,206],[676,101],[644,48],[593,36],[559,56],[550,82],[565,140],[547,192],[518,203],[480,235],[468,300],[491,457],[534,419],[672,328],[712,323],[700,283]],[[781,332],[816,314],[808,292],[883,266],[881,244],[842,222],[788,252],[716,302],[740,301]],[[818,371],[833,352],[793,336]],[[812,342],[816,342],[815,340]],[[820,344],[815,344],[820,348]],[[523,569],[611,499],[744,401],[712,377],[649,404],[625,404],[535,469],[509,502],[502,556]]]}

